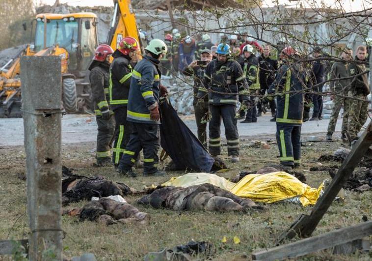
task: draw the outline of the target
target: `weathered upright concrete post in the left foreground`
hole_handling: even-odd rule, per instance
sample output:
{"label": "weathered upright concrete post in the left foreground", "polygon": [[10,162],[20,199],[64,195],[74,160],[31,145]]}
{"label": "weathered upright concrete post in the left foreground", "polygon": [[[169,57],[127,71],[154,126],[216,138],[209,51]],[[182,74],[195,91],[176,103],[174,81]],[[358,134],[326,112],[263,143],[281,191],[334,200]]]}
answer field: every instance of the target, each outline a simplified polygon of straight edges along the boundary
{"label": "weathered upright concrete post in the left foreground", "polygon": [[61,61],[21,58],[29,260],[62,260]]}

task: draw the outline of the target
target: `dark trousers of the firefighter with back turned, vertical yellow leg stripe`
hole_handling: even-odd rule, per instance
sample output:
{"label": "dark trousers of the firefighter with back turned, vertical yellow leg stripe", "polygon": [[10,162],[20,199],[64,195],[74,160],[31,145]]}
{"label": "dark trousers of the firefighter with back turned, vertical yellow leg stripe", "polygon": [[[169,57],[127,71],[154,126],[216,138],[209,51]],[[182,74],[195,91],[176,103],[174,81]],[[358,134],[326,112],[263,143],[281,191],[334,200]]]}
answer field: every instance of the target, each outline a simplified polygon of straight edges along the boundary
{"label": "dark trousers of the firefighter with back turned, vertical yellow leg stripe", "polygon": [[279,147],[280,163],[286,166],[300,164],[301,126],[276,123],[276,141]]}

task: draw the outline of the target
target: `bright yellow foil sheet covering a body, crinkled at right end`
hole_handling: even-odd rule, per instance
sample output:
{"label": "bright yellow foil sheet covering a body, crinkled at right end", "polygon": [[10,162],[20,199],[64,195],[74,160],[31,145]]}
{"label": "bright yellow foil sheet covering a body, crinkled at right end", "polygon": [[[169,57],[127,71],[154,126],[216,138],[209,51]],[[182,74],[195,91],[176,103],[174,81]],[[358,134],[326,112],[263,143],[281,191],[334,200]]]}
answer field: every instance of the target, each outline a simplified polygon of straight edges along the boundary
{"label": "bright yellow foil sheet covering a body, crinkled at right end", "polygon": [[263,175],[246,175],[230,192],[242,198],[265,203],[274,203],[299,197],[301,204],[307,206],[317,202],[322,188],[323,184],[318,189],[315,189],[302,183],[291,174],[273,172]]}

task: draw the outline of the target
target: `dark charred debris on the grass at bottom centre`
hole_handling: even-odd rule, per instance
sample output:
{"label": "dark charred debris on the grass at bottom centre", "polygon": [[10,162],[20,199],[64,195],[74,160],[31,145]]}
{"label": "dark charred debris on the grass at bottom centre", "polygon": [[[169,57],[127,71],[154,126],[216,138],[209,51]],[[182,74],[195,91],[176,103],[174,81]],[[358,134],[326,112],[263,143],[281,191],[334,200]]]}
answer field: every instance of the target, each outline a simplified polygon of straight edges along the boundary
{"label": "dark charred debris on the grass at bottom centre", "polygon": [[150,252],[145,261],[190,261],[195,255],[204,254],[206,259],[214,255],[214,246],[211,243],[190,241],[186,245],[176,246],[172,249],[164,248],[159,252]]}

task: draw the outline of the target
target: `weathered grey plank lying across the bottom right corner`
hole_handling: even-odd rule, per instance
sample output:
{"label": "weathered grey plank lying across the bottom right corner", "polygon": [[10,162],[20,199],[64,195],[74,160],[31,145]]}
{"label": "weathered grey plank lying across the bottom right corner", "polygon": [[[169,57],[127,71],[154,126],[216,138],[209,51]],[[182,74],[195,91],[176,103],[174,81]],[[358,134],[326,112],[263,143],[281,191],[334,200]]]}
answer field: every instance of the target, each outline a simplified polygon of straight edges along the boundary
{"label": "weathered grey plank lying across the bottom right corner", "polygon": [[372,221],[325,234],[298,240],[296,242],[252,253],[253,260],[280,260],[295,258],[336,245],[345,244],[372,234]]}

